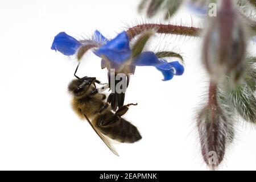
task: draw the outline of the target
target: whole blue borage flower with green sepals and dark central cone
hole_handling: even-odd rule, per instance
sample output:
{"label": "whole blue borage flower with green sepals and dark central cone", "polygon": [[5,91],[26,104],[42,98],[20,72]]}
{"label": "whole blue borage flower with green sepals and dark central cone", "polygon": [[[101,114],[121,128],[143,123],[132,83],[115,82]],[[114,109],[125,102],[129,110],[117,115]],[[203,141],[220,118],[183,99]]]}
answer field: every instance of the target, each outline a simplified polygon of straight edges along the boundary
{"label": "whole blue borage flower with green sepals and dark central cone", "polygon": [[[112,70],[114,74],[125,74],[129,83],[129,75],[133,75],[137,66],[153,66],[158,71],[162,72],[164,81],[171,80],[174,75],[182,75],[184,67],[179,61],[168,63],[162,57],[159,58],[154,52],[143,51],[143,48],[150,38],[154,34],[154,31],[145,31],[137,39],[134,46],[130,48],[129,36],[125,31],[118,34],[114,39],[108,40],[99,31],[95,31],[91,40],[78,41],[72,36],[60,32],[55,36],[51,49],[59,51],[64,55],[75,55],[80,60],[86,51],[92,49],[93,53],[98,57],[101,57],[101,68],[107,68],[109,71],[109,84],[110,75]],[[170,56],[168,56],[170,57]],[[177,57],[177,56],[176,56]],[[112,103],[113,109],[117,106],[123,105],[124,93],[115,93],[116,80],[114,81],[114,87],[110,86],[112,90],[112,96],[109,97],[109,101]],[[111,95],[111,94],[110,94]],[[114,96],[114,97],[113,97]]]}

